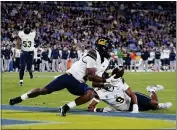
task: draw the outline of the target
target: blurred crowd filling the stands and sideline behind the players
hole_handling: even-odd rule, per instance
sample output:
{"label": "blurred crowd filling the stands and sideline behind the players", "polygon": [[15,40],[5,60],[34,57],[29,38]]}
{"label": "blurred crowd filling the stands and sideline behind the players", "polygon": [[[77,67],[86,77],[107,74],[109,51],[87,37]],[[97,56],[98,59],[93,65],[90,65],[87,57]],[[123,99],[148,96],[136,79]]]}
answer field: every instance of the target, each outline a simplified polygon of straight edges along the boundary
{"label": "blurred crowd filling the stands and sideline behind the players", "polygon": [[[15,59],[16,36],[24,22],[30,21],[37,33],[36,54],[40,54],[42,64],[34,61],[34,69],[38,71],[65,71],[67,67],[60,67],[60,64],[67,66],[68,59],[75,62],[82,52],[94,48],[99,36],[109,37],[114,43],[110,67],[117,64],[128,66],[130,71],[137,67],[168,70],[174,64],[171,60],[176,61],[176,55],[172,56],[173,52],[176,54],[175,9],[176,2],[2,2],[3,69],[9,71],[6,66],[11,62],[6,59]],[[12,51],[6,53],[6,49]],[[59,56],[55,62],[57,66],[52,69],[55,49]],[[74,61],[71,60],[74,54],[70,54],[73,49],[77,52]],[[47,53],[49,65],[42,63],[43,52]],[[155,60],[157,52],[160,52],[160,62]],[[173,67],[171,71],[174,70]]]}

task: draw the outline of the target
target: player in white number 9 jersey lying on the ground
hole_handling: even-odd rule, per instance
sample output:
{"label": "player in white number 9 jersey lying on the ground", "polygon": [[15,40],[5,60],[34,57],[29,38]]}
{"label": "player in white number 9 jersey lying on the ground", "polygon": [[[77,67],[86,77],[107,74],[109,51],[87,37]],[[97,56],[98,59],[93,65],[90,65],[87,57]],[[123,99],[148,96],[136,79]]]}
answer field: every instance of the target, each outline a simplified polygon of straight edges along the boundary
{"label": "player in white number 9 jersey lying on the ground", "polygon": [[[93,98],[91,104],[88,107],[92,112],[108,112],[108,111],[132,111],[132,113],[138,113],[139,111],[157,110],[170,108],[171,102],[159,103],[156,95],[157,91],[163,90],[161,85],[151,85],[147,87],[147,91],[150,92],[150,97],[139,92],[132,92],[130,87],[125,83],[122,78],[124,69],[115,68],[112,75],[116,75],[116,82],[112,83],[112,86],[103,86],[103,83],[92,82],[93,87],[98,94]],[[102,100],[109,106],[105,108],[96,108],[98,102]]]}

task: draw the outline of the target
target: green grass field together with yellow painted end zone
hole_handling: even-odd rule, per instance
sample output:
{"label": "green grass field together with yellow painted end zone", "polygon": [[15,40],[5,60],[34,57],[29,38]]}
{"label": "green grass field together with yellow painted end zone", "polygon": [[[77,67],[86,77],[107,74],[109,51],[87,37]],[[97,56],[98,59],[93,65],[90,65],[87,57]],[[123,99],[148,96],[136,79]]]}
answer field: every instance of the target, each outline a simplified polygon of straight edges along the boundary
{"label": "green grass field together with yellow painted end zone", "polygon": [[[43,87],[49,83],[58,73],[35,73],[34,79],[30,79],[28,73],[25,74],[24,86],[18,85],[18,73],[3,73],[2,74],[2,104],[8,105],[9,98],[20,96],[21,94],[36,88]],[[165,89],[158,92],[159,102],[172,102],[173,106],[169,110],[148,111],[148,113],[176,114],[176,73],[161,72],[161,73],[125,73],[125,81],[134,90],[148,94],[146,86],[151,84],[161,84]],[[89,83],[88,83],[89,84]],[[65,103],[74,100],[76,97],[62,90],[50,95],[40,96],[34,99],[29,99],[19,104],[22,106],[37,106],[46,108],[57,108]],[[88,104],[76,107],[77,109],[85,110]],[[104,103],[100,103],[99,107],[104,107]],[[154,114],[154,116],[156,116]],[[102,116],[101,114],[93,115],[84,113],[68,113],[66,117],[57,115],[57,110],[54,112],[45,111],[27,111],[14,110],[10,107],[9,110],[2,110],[2,119],[11,120],[11,123],[4,124],[3,129],[59,129],[59,128],[117,128],[117,129],[157,129],[157,128],[175,128],[176,121],[168,119],[146,119],[133,117],[110,116],[109,114]],[[36,121],[38,123],[13,123],[15,121]],[[141,123],[141,125],[140,125]],[[128,125],[127,125],[128,124]]]}

